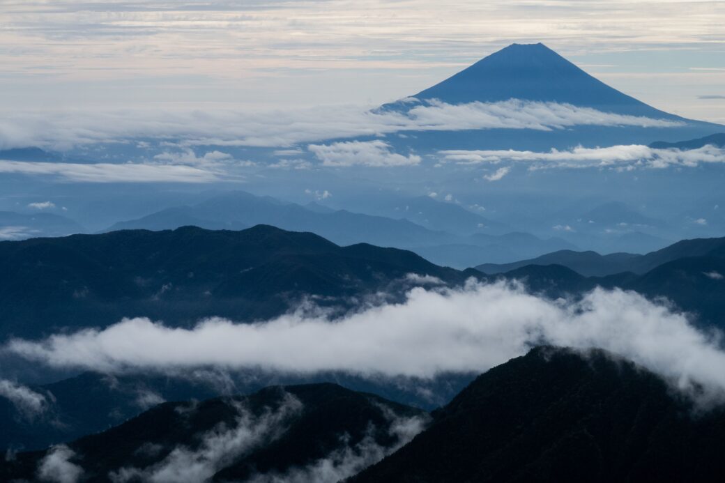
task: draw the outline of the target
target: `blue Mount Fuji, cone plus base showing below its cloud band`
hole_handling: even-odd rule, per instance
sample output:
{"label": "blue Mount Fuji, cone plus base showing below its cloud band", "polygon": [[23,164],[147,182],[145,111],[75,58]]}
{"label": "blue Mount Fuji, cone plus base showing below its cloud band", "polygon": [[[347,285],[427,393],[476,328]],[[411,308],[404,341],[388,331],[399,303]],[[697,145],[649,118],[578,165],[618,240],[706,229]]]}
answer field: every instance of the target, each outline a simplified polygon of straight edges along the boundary
{"label": "blue Mount Fuji, cone plus base showing below its cloud band", "polygon": [[[511,104],[511,105],[507,105]],[[725,131],[725,126],[658,110],[608,86],[584,72],[544,44],[512,44],[479,60],[441,83],[397,102],[384,104],[377,112],[418,115],[416,110],[458,106],[494,107],[492,115],[510,109],[526,110],[537,119],[546,111],[578,110],[590,117],[571,125],[550,128],[500,128],[428,130],[405,143],[392,141],[399,149],[423,152],[444,149],[570,149],[574,146],[651,144],[684,141]],[[503,104],[498,107],[496,104]],[[583,111],[582,111],[583,110]],[[460,113],[457,113],[460,114]],[[614,115],[614,117],[612,117]],[[542,119],[542,117],[538,117]],[[406,137],[408,133],[404,133]]]}

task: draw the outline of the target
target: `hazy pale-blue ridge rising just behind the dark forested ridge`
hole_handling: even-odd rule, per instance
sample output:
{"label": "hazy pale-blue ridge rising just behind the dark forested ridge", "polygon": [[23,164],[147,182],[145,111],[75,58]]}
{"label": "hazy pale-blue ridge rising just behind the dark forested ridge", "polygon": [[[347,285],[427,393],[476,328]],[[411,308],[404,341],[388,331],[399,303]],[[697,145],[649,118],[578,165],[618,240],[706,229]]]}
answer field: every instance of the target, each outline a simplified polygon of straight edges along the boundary
{"label": "hazy pale-blue ridge rising just behind the dark forested ridge", "polygon": [[108,231],[158,231],[181,226],[241,230],[268,224],[285,230],[311,231],[340,245],[362,242],[410,249],[437,265],[454,268],[468,268],[481,260],[510,262],[558,249],[576,249],[563,239],[510,233],[510,228],[502,223],[430,197],[398,200],[394,206],[376,207],[373,213],[302,206],[246,191],[231,191],[197,205],[170,207],[115,223]]}

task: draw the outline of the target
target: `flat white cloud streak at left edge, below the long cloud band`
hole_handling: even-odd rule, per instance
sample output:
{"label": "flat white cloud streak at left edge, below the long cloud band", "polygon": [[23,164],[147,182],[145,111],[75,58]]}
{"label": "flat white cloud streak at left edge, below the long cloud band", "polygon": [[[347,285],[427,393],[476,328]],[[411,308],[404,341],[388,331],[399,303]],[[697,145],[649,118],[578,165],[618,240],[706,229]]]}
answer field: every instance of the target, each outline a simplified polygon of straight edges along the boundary
{"label": "flat white cloud streak at left edge, below the long cloud band", "polygon": [[209,170],[183,165],[139,163],[33,162],[0,160],[0,173],[52,176],[83,183],[209,183],[218,175]]}

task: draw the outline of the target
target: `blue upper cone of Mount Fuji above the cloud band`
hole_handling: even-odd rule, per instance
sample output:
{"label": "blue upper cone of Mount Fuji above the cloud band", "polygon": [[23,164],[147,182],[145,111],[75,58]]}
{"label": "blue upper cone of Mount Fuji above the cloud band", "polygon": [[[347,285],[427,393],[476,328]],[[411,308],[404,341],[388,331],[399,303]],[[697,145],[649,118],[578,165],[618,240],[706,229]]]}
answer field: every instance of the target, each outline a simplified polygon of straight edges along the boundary
{"label": "blue upper cone of Mount Fuji above the cloud band", "polygon": [[544,44],[512,44],[414,97],[449,104],[523,99],[626,115],[676,117],[607,86]]}

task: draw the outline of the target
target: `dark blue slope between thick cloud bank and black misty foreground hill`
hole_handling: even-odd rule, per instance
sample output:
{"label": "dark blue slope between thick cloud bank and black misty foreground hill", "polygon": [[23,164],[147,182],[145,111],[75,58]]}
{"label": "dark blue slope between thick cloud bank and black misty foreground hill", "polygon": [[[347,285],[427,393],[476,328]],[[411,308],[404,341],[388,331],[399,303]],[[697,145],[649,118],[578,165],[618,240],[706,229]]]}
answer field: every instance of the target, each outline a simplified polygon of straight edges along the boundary
{"label": "dark blue slope between thick cloud bank and black misty foreground hill", "polygon": [[123,423],[163,401],[205,400],[231,394],[249,394],[271,385],[334,382],[355,391],[424,409],[449,401],[475,374],[444,374],[435,379],[384,379],[349,373],[311,375],[267,371],[195,369],[180,373],[157,372],[105,375],[82,373],[68,379],[30,387],[46,397],[45,410],[25,414],[0,397],[0,453],[37,450]]}

